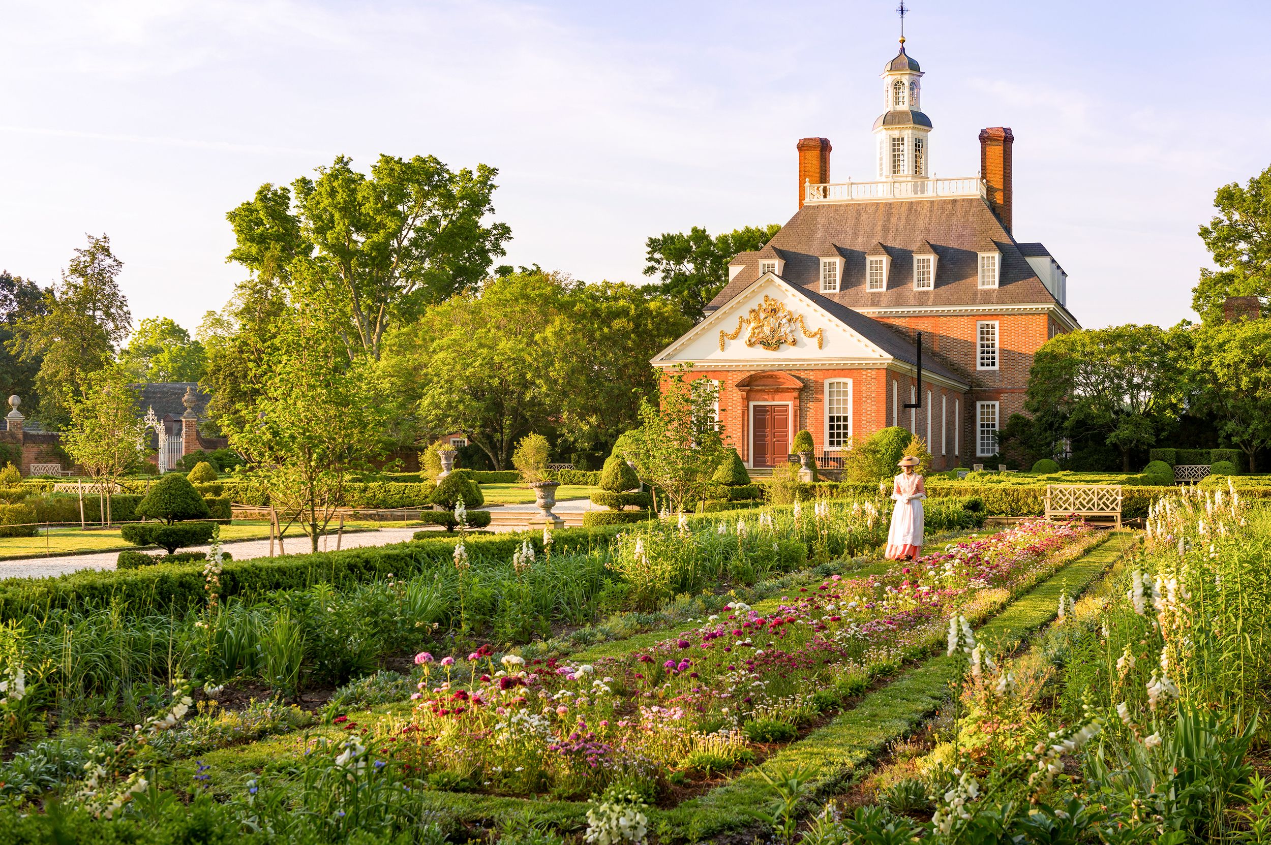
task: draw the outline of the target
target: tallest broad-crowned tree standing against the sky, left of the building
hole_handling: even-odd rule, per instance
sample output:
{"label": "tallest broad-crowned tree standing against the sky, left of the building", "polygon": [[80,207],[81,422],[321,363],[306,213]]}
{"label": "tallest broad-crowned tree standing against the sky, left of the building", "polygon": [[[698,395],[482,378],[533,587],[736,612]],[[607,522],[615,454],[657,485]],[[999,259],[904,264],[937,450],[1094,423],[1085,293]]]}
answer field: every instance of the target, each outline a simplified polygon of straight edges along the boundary
{"label": "tallest broad-crowned tree standing against the sky, left of the building", "polygon": [[283,283],[320,316],[350,357],[380,357],[384,334],[431,302],[472,290],[503,243],[494,168],[450,170],[435,156],[381,155],[370,175],[338,156],[291,189],[266,184],[229,212],[230,260]]}

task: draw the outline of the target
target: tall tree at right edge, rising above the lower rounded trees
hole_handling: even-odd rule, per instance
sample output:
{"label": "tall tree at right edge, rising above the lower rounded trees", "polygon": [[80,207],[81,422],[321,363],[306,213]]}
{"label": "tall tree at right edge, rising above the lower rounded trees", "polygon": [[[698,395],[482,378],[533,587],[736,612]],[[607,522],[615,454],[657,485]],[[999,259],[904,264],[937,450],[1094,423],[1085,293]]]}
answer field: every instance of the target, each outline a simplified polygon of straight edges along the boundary
{"label": "tall tree at right edge, rising above the lower rounded trees", "polygon": [[1214,194],[1218,215],[1200,227],[1201,240],[1219,269],[1201,268],[1192,288],[1192,310],[1205,323],[1223,319],[1228,296],[1257,296],[1271,305],[1271,168],[1240,186]]}

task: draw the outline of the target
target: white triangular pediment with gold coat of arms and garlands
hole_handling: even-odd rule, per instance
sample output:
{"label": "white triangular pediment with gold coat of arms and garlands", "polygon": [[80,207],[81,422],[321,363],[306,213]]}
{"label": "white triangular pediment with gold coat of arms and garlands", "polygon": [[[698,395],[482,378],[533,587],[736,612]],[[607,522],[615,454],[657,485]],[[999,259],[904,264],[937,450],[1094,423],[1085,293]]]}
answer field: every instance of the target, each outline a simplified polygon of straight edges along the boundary
{"label": "white triangular pediment with gold coat of arms and garlands", "polygon": [[764,273],[653,358],[658,366],[877,362],[891,356],[774,273]]}

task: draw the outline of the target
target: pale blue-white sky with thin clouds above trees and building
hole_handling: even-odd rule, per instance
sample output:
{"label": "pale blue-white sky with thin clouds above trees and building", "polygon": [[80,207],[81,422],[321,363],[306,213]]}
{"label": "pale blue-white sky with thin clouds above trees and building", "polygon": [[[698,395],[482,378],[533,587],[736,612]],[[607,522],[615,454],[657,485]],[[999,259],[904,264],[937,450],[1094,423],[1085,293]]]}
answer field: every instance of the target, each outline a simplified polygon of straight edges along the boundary
{"label": "pale blue-white sky with thin clouds above trees and building", "polygon": [[[785,222],[794,144],[873,178],[896,0],[0,0],[0,268],[111,236],[133,319],[193,330],[225,212],[341,154],[498,168],[500,263],[646,282],[649,235]],[[1097,328],[1193,318],[1215,188],[1271,165],[1263,3],[914,0],[930,169],[1012,127],[1014,235]],[[1246,33],[1249,37],[1244,37]]]}

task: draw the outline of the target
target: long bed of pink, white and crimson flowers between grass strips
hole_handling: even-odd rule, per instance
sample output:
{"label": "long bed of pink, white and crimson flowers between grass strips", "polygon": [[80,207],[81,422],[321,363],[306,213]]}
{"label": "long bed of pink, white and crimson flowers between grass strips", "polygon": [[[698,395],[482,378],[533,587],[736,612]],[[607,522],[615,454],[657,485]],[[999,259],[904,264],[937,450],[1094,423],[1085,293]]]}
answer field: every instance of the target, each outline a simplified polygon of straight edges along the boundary
{"label": "long bed of pink, white and crimson flowers between grass strips", "polygon": [[[582,797],[615,781],[667,792],[667,774],[730,770],[943,639],[949,615],[1000,604],[1089,530],[1030,522],[886,576],[834,577],[774,612],[730,605],[695,632],[580,665],[469,656],[473,680],[426,670],[408,724],[386,738],[433,783]],[[444,675],[446,677],[444,677]],[[674,774],[672,774],[674,776]]]}

